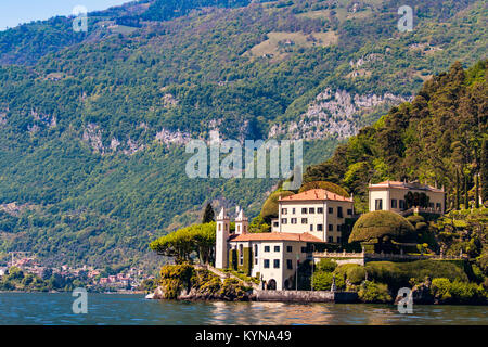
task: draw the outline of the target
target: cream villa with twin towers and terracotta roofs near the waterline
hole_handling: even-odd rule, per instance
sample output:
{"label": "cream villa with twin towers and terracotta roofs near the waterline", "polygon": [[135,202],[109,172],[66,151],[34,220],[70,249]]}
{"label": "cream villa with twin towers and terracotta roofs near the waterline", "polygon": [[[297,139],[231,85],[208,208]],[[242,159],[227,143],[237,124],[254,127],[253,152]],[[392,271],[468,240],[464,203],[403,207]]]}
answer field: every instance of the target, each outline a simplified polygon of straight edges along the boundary
{"label": "cream villa with twin towers and terracotta roofs near the waterline", "polygon": [[222,208],[216,218],[216,268],[243,270],[260,278],[267,290],[292,290],[299,265],[312,260],[316,245],[341,243],[346,218],[352,215],[352,198],[323,189],[280,198],[278,223],[267,233],[248,233],[242,209],[231,232]]}

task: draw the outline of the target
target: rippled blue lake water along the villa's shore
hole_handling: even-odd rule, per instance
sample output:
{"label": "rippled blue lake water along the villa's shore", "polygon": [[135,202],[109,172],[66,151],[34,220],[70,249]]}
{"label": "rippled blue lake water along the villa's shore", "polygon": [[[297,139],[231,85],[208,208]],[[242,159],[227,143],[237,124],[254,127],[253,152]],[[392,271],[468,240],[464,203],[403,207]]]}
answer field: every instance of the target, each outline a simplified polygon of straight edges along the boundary
{"label": "rippled blue lake water along the villa's shore", "polygon": [[88,294],[88,313],[73,313],[70,294],[0,293],[0,324],[483,324],[487,306],[413,306],[400,314],[394,305],[179,303],[143,295]]}

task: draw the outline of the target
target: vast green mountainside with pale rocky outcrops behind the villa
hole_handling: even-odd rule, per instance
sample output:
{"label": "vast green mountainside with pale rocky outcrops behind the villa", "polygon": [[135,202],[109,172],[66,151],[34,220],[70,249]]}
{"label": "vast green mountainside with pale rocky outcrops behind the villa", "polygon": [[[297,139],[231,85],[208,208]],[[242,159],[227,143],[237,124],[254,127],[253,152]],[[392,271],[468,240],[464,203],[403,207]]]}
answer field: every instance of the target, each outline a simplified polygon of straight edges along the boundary
{"label": "vast green mountainside with pale rocky outcrops behind the villa", "polygon": [[256,216],[277,180],[190,180],[183,144],[305,139],[320,163],[485,57],[485,1],[418,1],[411,33],[402,4],[139,1],[90,13],[88,33],[65,17],[0,31],[1,256],[127,264],[207,202]]}

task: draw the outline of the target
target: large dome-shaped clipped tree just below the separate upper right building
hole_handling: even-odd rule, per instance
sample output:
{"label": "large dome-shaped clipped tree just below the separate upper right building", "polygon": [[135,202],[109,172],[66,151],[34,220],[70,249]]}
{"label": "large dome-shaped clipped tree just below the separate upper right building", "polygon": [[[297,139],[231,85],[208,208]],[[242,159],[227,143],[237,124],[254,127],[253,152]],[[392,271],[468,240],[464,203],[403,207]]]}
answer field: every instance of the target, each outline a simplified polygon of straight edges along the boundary
{"label": "large dome-shaped clipped tree just below the separate upper right building", "polygon": [[375,239],[382,243],[388,239],[401,239],[414,231],[413,226],[402,216],[389,210],[375,210],[358,219],[350,233],[349,243]]}

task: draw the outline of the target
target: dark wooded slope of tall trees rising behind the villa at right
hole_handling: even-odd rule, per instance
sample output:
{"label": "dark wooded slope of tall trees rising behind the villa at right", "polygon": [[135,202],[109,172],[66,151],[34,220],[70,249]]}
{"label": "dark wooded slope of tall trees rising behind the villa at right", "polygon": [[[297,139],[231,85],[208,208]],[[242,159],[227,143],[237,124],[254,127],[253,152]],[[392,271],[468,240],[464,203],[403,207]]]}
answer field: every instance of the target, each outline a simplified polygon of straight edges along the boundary
{"label": "dark wooded slope of tall trees rising behind the villa at right", "polygon": [[[365,207],[368,183],[420,180],[445,187],[447,208],[488,200],[488,61],[426,81],[412,102],[362,128],[329,160],[307,168],[305,181],[331,181]],[[484,144],[485,143],[485,144]],[[483,149],[485,145],[485,150]],[[471,202],[471,203],[470,203]]]}

